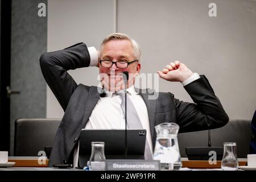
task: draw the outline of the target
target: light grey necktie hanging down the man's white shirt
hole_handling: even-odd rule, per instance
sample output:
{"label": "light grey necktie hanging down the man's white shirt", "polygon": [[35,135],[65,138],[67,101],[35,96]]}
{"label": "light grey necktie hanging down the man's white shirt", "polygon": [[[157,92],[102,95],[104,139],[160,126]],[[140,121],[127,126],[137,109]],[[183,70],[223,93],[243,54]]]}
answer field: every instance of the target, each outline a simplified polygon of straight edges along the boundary
{"label": "light grey necktie hanging down the man's white shirt", "polygon": [[[123,110],[123,114],[125,114],[125,94],[124,93],[117,93],[119,96],[121,96],[122,98],[122,102],[121,102],[121,107]],[[133,102],[131,102],[128,94],[126,97],[126,103],[127,103],[127,107],[126,107],[126,111],[127,111],[127,127],[129,129],[142,129],[142,124],[141,124],[141,120],[139,119],[138,113],[133,105]],[[145,151],[144,151],[144,158],[145,159],[152,159],[152,154],[150,151],[150,147],[148,145],[147,139],[146,139],[146,146],[145,146]]]}

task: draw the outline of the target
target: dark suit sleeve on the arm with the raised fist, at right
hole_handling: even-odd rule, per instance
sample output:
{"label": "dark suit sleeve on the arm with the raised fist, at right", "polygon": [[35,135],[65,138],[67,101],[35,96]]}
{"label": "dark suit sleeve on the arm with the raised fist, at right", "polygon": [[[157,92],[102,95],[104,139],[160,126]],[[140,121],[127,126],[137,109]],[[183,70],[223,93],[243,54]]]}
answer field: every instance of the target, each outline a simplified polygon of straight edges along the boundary
{"label": "dark suit sleeve on the arm with the raised fist, at right", "polygon": [[228,123],[229,117],[205,76],[200,76],[184,88],[195,104],[179,101],[171,94],[180,133],[216,129]]}

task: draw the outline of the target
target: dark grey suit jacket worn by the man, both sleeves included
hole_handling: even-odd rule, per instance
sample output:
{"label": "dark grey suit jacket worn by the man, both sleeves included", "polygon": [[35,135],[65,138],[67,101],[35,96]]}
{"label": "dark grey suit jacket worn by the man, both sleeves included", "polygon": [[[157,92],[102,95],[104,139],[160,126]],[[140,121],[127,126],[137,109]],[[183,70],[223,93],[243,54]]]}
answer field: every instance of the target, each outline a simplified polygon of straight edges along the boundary
{"label": "dark grey suit jacket worn by the man, both sleeves included", "polygon": [[[73,163],[73,150],[77,146],[80,131],[88,122],[93,107],[100,98],[96,86],[77,85],[68,70],[88,67],[90,55],[84,43],[61,51],[43,53],[40,66],[47,84],[65,111],[57,130],[49,166]],[[168,84],[168,82],[166,82]],[[159,92],[156,100],[148,100],[152,90],[140,94],[147,106],[153,145],[156,133],[154,126],[163,122],[175,122],[180,133],[222,127],[229,118],[204,76],[184,86],[195,104],[183,102],[172,93]]]}

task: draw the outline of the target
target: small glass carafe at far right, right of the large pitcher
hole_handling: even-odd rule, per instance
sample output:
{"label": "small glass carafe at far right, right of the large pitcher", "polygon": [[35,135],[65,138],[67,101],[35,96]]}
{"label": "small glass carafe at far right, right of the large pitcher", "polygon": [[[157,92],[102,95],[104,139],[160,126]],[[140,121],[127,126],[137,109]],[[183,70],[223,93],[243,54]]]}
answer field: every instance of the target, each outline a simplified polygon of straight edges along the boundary
{"label": "small glass carafe at far right, right of the large pitcher", "polygon": [[236,171],[238,169],[236,143],[224,143],[224,154],[221,161],[221,169],[224,171]]}

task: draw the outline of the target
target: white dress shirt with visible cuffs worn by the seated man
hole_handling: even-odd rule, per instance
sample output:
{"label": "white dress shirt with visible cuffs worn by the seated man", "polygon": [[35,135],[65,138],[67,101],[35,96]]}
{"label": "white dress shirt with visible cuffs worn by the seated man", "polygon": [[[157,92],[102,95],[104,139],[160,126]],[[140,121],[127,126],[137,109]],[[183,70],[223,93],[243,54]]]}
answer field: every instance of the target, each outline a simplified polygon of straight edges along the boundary
{"label": "white dress shirt with visible cuffs worn by the seated man", "polygon": [[[88,51],[90,54],[90,67],[96,66],[98,63],[98,52],[96,48],[89,47]],[[194,73],[181,84],[185,86],[198,78],[200,78],[200,76],[197,73]],[[105,90],[105,92],[106,97],[100,97],[98,100],[92,114],[89,117],[89,121],[86,124],[85,129],[125,129],[125,116],[121,108],[121,97],[113,94],[113,92],[109,92],[108,90]],[[135,91],[134,85],[128,88],[127,92],[129,93],[128,97],[130,98],[131,102],[133,102],[137,113],[139,113],[138,116],[141,120],[143,129],[146,129],[147,131],[146,139],[150,146],[151,154],[153,154],[154,150],[152,148],[153,144],[146,104],[141,95]],[[77,167],[78,157],[79,145],[74,151],[74,167]]]}

